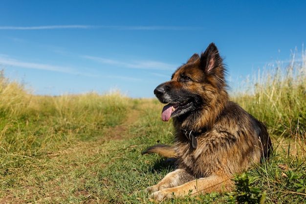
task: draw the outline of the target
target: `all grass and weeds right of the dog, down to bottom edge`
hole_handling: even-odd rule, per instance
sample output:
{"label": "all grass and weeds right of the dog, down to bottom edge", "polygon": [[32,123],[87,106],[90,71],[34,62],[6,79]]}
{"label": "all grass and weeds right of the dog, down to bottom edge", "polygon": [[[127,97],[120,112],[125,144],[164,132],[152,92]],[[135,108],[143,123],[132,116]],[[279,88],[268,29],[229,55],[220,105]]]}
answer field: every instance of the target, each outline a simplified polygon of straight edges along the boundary
{"label": "all grass and weeds right of the dog, down to bottom edge", "polygon": [[306,55],[298,54],[295,50],[290,62],[276,61],[259,69],[244,81],[242,90],[234,91],[233,100],[266,124],[274,154],[248,172],[253,183],[245,174],[235,179],[228,203],[251,198],[247,196],[265,203],[305,202]]}

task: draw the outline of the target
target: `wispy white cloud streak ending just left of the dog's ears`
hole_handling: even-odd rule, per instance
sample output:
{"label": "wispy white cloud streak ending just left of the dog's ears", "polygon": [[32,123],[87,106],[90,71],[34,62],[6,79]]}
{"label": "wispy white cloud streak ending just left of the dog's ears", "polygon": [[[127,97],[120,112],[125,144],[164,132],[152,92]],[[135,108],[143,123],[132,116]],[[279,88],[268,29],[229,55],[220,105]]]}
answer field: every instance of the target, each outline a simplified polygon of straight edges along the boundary
{"label": "wispy white cloud streak ending just left of the dog's ears", "polygon": [[159,70],[174,70],[177,68],[177,65],[167,64],[163,62],[157,61],[131,61],[131,62],[123,62],[112,59],[106,59],[101,57],[93,57],[84,55],[82,56],[85,59],[89,59],[101,64],[114,65],[122,68],[139,68],[139,69],[159,69]]}

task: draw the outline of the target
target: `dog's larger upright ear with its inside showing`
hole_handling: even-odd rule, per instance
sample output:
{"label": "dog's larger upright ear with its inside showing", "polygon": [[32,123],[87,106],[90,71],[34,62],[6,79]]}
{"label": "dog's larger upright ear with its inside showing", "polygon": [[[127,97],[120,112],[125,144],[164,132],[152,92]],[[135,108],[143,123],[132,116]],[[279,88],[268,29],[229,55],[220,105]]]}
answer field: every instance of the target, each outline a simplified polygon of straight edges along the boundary
{"label": "dog's larger upright ear with its inside showing", "polygon": [[205,52],[201,53],[201,68],[208,73],[212,72],[214,68],[222,68],[222,58],[219,55],[217,46],[214,43],[211,43],[206,48]]}

